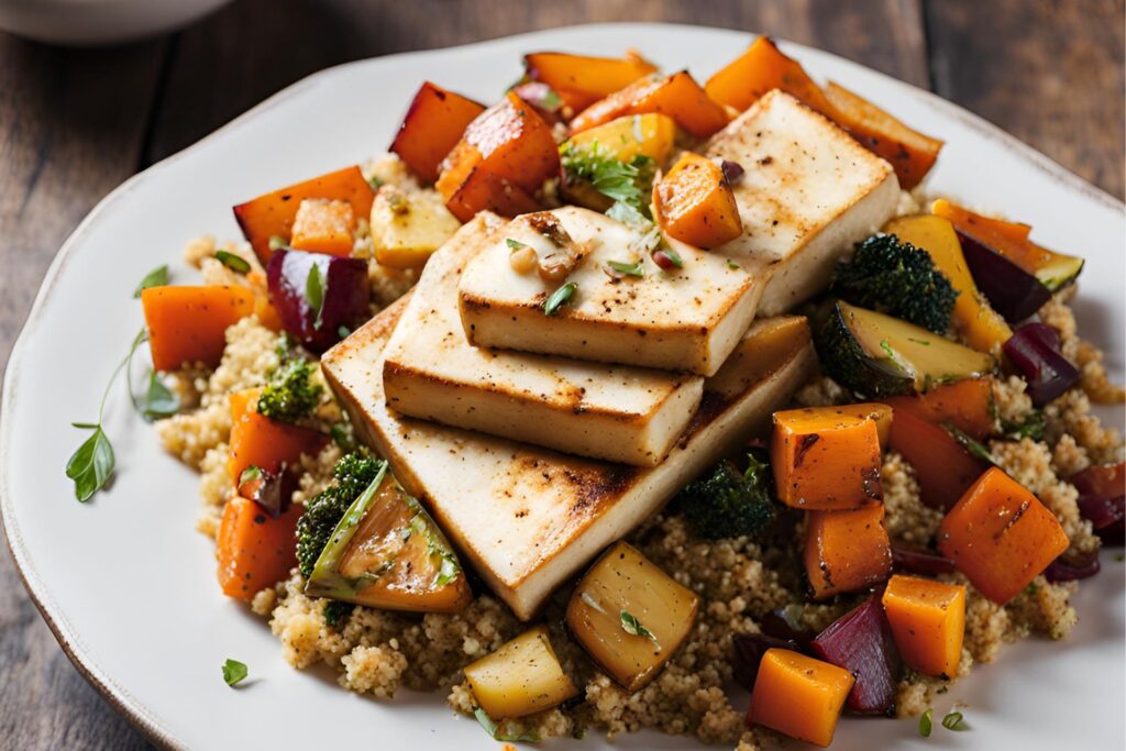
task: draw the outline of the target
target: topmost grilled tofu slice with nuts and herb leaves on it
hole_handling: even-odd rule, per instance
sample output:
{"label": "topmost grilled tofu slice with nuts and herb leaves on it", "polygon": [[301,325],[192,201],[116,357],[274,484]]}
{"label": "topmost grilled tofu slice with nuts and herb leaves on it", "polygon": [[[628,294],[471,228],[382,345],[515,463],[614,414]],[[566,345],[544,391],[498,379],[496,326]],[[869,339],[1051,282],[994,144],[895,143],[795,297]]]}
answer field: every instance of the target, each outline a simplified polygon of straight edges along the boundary
{"label": "topmost grilled tofu slice with nuts and herb leaves on it", "polygon": [[[526,245],[544,258],[555,243],[530,217],[518,217],[462,275],[458,302],[471,342],[701,375],[720,369],[754,318],[762,292],[754,274],[687,245],[677,247],[681,268],[663,271],[638,230],[577,206],[547,213],[586,252],[566,277],[578,286],[574,297],[544,315],[561,283],[520,274],[510,256]],[[610,262],[637,262],[643,276]]]}

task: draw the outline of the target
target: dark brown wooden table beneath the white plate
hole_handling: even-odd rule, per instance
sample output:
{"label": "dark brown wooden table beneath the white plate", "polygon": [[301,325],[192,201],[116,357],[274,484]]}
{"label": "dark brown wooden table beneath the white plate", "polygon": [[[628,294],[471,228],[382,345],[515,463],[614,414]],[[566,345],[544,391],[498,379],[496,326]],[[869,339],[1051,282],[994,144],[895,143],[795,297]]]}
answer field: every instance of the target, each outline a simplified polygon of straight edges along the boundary
{"label": "dark brown wooden table beneath the white plate", "polygon": [[[609,20],[832,51],[967,107],[1123,197],[1123,0],[238,0],[113,50],[0,34],[0,363],[56,249],[102,196],[278,89],[348,60]],[[146,745],[68,662],[6,548],[0,676],[0,748]]]}

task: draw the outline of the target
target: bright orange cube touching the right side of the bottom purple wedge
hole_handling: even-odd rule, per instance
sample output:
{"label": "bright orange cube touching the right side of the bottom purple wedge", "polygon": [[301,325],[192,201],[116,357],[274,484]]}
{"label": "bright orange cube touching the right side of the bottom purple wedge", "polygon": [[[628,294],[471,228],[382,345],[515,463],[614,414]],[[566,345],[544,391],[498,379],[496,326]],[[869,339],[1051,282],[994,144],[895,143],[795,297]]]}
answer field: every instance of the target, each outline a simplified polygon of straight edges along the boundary
{"label": "bright orange cube touching the right side of the bottom purple wedge", "polygon": [[927,676],[953,678],[966,632],[966,588],[896,574],[883,604],[903,662]]}

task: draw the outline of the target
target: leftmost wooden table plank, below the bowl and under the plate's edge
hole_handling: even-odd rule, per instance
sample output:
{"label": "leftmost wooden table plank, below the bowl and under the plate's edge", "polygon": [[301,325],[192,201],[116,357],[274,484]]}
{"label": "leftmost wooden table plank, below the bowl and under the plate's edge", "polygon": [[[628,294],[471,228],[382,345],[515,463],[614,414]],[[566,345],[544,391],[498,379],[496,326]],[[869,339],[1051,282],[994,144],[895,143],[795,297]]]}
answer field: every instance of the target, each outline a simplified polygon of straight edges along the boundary
{"label": "leftmost wooden table plank, below the bowl and under the plate's edge", "polygon": [[[65,51],[0,34],[0,369],[59,245],[135,169],[163,51]],[[59,649],[7,548],[0,665],[0,748],[148,746]]]}

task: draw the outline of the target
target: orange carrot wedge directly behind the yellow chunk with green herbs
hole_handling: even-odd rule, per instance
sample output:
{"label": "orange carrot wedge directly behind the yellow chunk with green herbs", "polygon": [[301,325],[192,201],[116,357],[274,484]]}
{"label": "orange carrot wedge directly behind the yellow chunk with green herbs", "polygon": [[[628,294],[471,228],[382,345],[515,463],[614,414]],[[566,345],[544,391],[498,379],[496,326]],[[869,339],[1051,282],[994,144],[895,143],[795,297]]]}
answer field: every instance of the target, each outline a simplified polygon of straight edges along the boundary
{"label": "orange carrot wedge directly behind the yellow chunk with green herbs", "polygon": [[571,132],[580,133],[625,115],[668,115],[694,137],[706,138],[731,119],[687,71],[668,78],[647,75],[620,91],[596,101],[571,120]]}

